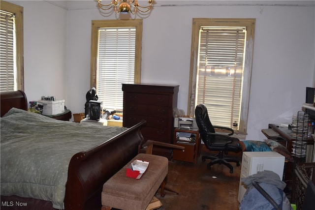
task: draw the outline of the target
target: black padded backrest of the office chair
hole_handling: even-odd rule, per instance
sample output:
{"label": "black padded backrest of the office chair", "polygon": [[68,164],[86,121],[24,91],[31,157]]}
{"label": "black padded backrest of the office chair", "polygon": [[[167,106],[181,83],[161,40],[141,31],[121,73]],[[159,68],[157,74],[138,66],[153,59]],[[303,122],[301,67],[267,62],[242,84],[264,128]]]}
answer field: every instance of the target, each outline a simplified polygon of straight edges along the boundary
{"label": "black padded backrest of the office chair", "polygon": [[204,104],[199,104],[195,109],[195,120],[199,128],[202,140],[208,141],[207,133],[215,133],[215,129],[209,119],[208,110]]}

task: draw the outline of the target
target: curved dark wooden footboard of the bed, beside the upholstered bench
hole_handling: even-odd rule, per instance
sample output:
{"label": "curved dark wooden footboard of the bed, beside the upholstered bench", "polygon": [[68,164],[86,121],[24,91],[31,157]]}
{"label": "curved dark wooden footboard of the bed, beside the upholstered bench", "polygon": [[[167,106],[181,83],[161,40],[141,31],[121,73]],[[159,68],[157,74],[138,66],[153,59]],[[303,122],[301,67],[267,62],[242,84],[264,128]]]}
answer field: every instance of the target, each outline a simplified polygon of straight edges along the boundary
{"label": "curved dark wooden footboard of the bed, beside the upholstered bench", "polygon": [[101,190],[138,153],[144,141],[140,132],[145,120],[98,147],[75,154],[68,168],[65,210],[91,210],[101,207]]}

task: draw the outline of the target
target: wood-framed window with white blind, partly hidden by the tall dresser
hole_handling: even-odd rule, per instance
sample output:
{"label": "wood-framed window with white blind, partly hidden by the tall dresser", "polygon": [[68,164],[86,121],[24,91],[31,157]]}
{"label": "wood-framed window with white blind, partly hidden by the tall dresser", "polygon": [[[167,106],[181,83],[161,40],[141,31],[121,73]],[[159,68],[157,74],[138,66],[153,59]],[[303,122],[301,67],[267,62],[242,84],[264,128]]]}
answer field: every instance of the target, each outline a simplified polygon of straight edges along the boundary
{"label": "wood-framed window with white blind, partly hidden by the tall dresser", "polygon": [[123,110],[123,83],[140,83],[142,20],[92,22],[91,86],[103,107]]}

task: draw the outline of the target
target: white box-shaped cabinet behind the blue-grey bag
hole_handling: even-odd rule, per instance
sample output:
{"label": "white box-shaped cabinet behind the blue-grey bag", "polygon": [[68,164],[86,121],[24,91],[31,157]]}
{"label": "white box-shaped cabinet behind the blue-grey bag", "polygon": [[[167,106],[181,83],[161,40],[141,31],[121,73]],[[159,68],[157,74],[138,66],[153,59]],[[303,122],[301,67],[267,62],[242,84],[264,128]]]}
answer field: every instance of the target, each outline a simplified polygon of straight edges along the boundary
{"label": "white box-shaped cabinet behind the blue-grey bag", "polygon": [[265,170],[275,172],[282,180],[284,173],[284,156],[276,151],[243,152],[240,186],[238,191],[238,201],[240,203],[247,190],[247,187],[241,179]]}

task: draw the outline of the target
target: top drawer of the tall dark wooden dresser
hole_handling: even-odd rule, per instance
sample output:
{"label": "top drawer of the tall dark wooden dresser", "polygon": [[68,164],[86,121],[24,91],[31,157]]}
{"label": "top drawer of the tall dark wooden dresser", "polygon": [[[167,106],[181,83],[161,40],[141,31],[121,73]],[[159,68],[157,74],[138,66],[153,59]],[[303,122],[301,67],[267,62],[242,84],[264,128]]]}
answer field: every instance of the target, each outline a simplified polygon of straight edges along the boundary
{"label": "top drawer of the tall dark wooden dresser", "polygon": [[126,104],[143,104],[143,105],[158,105],[169,106],[169,95],[147,94],[129,92],[124,95]]}

